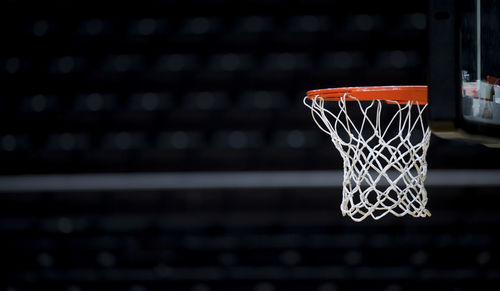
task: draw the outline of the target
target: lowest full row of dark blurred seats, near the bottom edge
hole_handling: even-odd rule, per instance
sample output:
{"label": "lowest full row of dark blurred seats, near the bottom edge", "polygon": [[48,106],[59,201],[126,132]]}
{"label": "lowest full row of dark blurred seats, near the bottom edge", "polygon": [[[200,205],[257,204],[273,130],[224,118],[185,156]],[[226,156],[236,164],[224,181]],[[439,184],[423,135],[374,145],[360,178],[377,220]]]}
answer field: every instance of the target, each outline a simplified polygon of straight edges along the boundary
{"label": "lowest full row of dark blurred seats, near the bottom edge", "polygon": [[[134,244],[135,241],[130,241]],[[73,247],[68,245],[67,247]],[[13,249],[14,250],[14,249]],[[372,265],[379,268],[392,266],[394,269],[420,269],[429,266],[439,267],[439,269],[459,269],[474,268],[481,269],[487,267],[498,268],[499,262],[492,260],[492,254],[489,251],[465,250],[461,260],[454,258],[450,252],[464,250],[453,249],[449,251],[432,250],[430,253],[422,250],[408,250],[407,253],[398,253],[397,258],[388,258],[379,262],[381,256],[374,256],[373,250],[349,250],[349,249],[321,249],[321,250],[280,250],[280,249],[253,249],[238,251],[207,251],[207,250],[186,250],[186,249],[161,249],[150,251],[151,254],[143,257],[128,257],[127,253],[140,253],[144,249],[128,248],[123,250],[102,249],[88,250],[80,247],[74,248],[77,253],[70,252],[69,249],[57,251],[33,251],[23,249],[23,255],[9,256],[7,264],[1,267],[5,269],[9,264],[17,263],[24,268],[33,268],[38,270],[60,270],[71,268],[78,270],[81,268],[95,268],[102,270],[104,268],[131,268],[134,265],[141,268],[153,269],[161,263],[167,264],[172,269],[180,270],[188,268],[203,268],[211,266],[214,269],[231,267],[255,267],[262,266],[274,267],[277,269],[301,266],[302,268],[318,268],[325,266],[345,266],[345,269],[359,268],[360,265]],[[389,255],[390,251],[379,249],[380,253]],[[154,256],[157,257],[154,257]],[[7,257],[5,258],[7,259]],[[497,259],[497,258],[495,258]],[[389,261],[390,260],[390,261]],[[13,264],[12,269],[16,269]],[[408,266],[408,267],[406,267]],[[11,270],[12,270],[11,269]],[[191,271],[191,270],[186,270]],[[311,270],[312,271],[312,270]],[[219,271],[220,272],[220,271]],[[395,274],[385,274],[385,276],[394,276]],[[415,274],[405,274],[407,277],[419,277],[419,272]],[[172,276],[175,277],[175,276]],[[311,276],[313,277],[313,276]],[[348,274],[340,275],[342,279],[349,278]]]}

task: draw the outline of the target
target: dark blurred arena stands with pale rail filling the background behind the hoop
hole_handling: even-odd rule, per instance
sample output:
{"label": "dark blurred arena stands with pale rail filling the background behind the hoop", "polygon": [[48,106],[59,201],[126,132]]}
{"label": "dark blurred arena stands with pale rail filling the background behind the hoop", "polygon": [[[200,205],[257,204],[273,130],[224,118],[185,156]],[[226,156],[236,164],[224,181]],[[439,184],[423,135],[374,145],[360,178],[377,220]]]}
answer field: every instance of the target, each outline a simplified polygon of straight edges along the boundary
{"label": "dark blurred arena stands with pale rail filling the background behind the hoop", "polygon": [[425,1],[77,2],[0,4],[0,290],[500,281],[498,149],[433,137],[433,216],[357,224],[302,104],[426,84]]}

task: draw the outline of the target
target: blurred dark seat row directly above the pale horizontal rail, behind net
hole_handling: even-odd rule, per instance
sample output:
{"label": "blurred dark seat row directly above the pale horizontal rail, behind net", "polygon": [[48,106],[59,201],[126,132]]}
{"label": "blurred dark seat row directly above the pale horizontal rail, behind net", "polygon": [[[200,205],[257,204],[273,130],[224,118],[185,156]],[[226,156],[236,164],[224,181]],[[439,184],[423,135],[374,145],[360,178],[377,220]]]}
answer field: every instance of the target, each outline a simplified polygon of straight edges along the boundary
{"label": "blurred dark seat row directly above the pale horizontal rail, behind net", "polygon": [[[484,167],[493,149],[464,144],[428,156],[431,168]],[[460,160],[454,157],[461,155]],[[491,158],[493,157],[493,158]],[[341,170],[328,136],[313,130],[62,132],[0,136],[2,173],[88,171]],[[488,168],[494,168],[495,163]]]}

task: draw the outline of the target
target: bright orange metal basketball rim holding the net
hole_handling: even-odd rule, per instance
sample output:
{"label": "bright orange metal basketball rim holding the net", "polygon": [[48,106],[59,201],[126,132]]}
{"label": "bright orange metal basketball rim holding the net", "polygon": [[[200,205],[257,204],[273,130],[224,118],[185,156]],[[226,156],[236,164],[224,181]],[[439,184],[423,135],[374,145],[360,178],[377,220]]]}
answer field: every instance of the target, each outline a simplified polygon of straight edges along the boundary
{"label": "bright orange metal basketball rim holding the net", "polygon": [[326,101],[339,101],[345,94],[361,101],[384,100],[387,103],[395,101],[399,104],[412,101],[419,105],[427,104],[427,86],[342,87],[307,91],[309,99],[318,96]]}

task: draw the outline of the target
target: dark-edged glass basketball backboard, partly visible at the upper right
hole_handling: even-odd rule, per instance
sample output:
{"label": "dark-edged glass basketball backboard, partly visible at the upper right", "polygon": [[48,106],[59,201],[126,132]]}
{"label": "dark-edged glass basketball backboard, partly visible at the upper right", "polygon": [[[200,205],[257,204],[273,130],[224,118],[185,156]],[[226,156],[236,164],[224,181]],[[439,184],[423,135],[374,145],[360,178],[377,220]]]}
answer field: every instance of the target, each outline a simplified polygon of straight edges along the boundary
{"label": "dark-edged glass basketball backboard, partly visible at the upper right", "polygon": [[500,146],[500,1],[429,2],[433,133]]}

